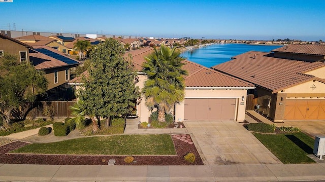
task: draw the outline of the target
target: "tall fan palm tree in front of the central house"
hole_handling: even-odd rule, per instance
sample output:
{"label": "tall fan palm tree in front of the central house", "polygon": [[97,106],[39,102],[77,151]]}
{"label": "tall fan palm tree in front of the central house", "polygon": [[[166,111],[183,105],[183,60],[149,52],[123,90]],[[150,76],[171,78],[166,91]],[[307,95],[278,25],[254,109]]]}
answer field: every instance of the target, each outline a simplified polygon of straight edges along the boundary
{"label": "tall fan palm tree in front of the central house", "polygon": [[166,111],[184,99],[183,76],[187,75],[187,71],[182,69],[184,58],[175,50],[162,45],[158,51],[154,49],[152,54],[145,57],[146,62],[142,65],[148,77],[142,94],[151,111],[157,107],[159,122],[165,122]]}

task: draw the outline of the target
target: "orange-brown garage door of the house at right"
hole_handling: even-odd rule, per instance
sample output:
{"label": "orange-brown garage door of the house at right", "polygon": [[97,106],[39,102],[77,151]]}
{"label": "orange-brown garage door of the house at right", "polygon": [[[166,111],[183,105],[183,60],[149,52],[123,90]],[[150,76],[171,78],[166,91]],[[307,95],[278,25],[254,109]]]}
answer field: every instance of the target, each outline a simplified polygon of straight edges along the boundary
{"label": "orange-brown garage door of the house at right", "polygon": [[325,120],[325,100],[286,100],[284,120]]}

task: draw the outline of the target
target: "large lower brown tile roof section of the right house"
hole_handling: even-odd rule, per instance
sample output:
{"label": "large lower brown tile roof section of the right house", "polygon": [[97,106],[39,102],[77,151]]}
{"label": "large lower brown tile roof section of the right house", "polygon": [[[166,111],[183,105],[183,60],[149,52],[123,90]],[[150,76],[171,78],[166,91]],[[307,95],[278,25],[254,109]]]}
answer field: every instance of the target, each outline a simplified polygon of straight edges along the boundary
{"label": "large lower brown tile roof section of the right house", "polygon": [[304,72],[325,66],[323,62],[305,62],[273,56],[273,53],[249,51],[212,68],[276,93],[318,79]]}

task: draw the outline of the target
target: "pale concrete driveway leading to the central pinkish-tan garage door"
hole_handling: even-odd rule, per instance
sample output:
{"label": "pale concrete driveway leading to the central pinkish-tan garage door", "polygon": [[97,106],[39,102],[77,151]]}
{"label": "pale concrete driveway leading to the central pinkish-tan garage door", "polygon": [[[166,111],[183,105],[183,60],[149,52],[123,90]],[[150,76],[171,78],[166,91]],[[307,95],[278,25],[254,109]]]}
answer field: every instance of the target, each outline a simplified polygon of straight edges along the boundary
{"label": "pale concrete driveway leading to the central pinkish-tan garage door", "polygon": [[236,121],[185,121],[205,165],[281,164]]}

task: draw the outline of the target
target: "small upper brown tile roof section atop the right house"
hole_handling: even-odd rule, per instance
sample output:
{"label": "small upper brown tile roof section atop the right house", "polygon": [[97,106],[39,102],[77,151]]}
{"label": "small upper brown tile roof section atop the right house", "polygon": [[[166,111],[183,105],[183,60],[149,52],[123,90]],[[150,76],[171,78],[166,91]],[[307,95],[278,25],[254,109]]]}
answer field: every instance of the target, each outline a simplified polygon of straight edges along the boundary
{"label": "small upper brown tile roof section atop the right house", "polygon": [[284,53],[297,53],[297,54],[314,54],[325,56],[325,45],[300,45],[289,44],[277,49],[273,49],[272,52],[284,52]]}

